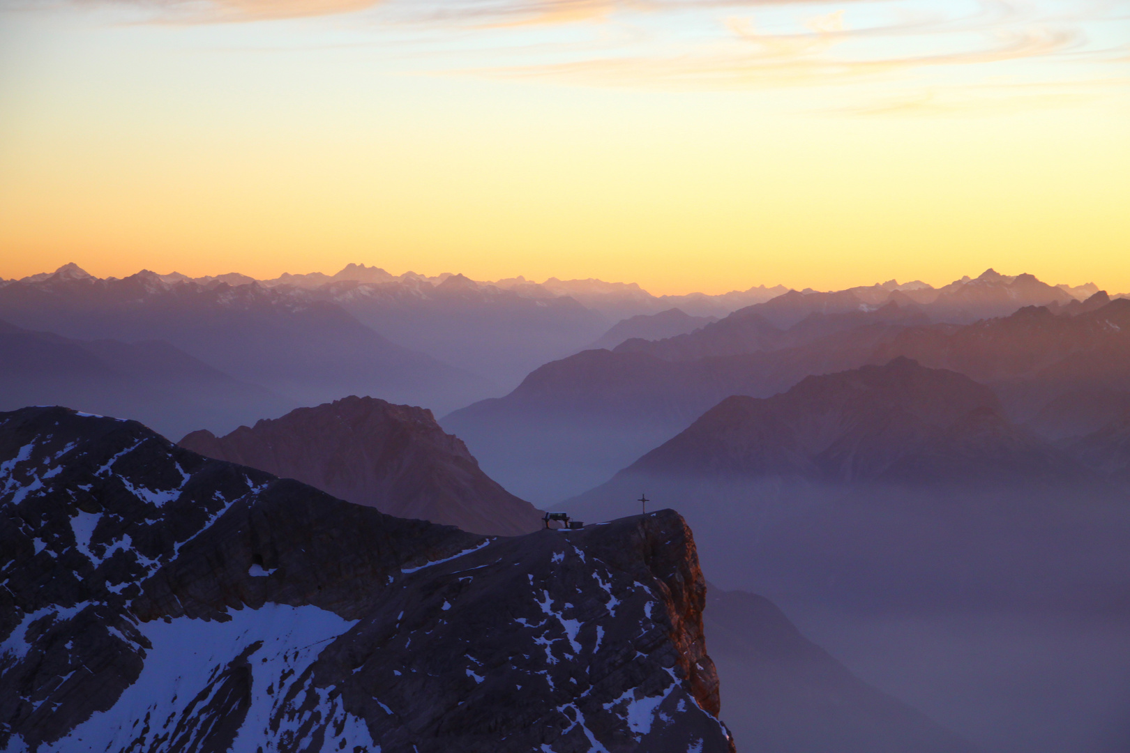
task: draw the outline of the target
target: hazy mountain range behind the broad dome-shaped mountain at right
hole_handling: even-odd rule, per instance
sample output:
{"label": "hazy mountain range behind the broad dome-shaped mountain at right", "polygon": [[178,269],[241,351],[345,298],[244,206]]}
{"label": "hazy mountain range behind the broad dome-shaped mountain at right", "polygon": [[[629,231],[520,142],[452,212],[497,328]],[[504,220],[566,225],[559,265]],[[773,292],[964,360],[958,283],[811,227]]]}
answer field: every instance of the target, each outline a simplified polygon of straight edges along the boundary
{"label": "hazy mountain range behind the broad dome-shaped mountain at right", "polygon": [[[990,303],[1024,282],[1024,275],[1012,282],[986,275],[966,286],[977,283]],[[1020,288],[1067,295],[1050,286]],[[1008,316],[953,324],[931,323],[918,304],[892,300],[861,310],[849,292],[790,292],[688,334],[579,353],[441,422],[493,476],[546,505],[601,483],[727,396],[768,397],[810,375],[898,356],[983,382],[1010,421],[1049,439],[1094,432],[1130,409],[1127,299],[1099,291],[1078,305],[1025,305]]]}

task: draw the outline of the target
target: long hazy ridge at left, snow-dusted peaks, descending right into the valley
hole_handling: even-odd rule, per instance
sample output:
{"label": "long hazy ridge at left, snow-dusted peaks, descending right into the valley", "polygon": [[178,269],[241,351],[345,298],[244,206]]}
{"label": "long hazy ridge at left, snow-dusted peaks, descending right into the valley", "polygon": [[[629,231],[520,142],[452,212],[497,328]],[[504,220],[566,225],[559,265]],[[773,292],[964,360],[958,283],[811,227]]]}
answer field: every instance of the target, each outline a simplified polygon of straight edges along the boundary
{"label": "long hazy ridge at left, snow-dusted peaks, descending right into the valley", "polygon": [[337,304],[281,287],[69,270],[0,287],[0,318],[69,338],[165,340],[292,406],[381,394],[443,410],[490,392],[485,379],[393,344]]}

